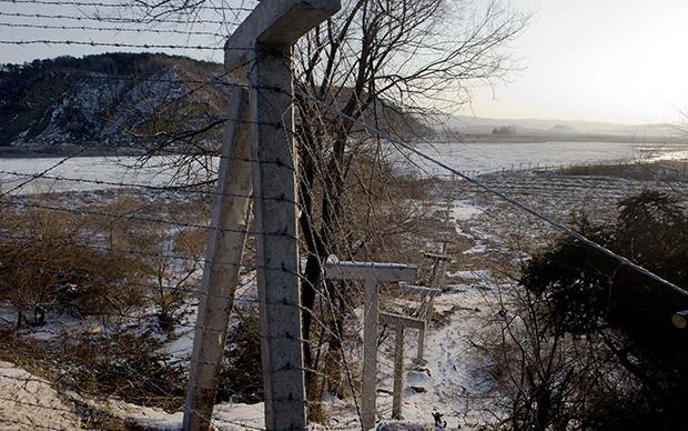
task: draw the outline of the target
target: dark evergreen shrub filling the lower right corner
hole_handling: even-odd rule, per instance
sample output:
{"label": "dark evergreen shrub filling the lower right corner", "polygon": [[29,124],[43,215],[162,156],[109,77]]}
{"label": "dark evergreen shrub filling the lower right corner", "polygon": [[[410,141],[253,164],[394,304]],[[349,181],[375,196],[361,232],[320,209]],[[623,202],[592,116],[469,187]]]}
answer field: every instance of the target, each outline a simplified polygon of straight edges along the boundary
{"label": "dark evergreen shrub filling the lower right corner", "polygon": [[[688,214],[678,201],[645,191],[620,201],[619,210],[611,224],[578,217],[578,230],[677,285],[688,285]],[[560,401],[548,404],[548,423],[540,417],[529,422],[536,424],[533,429],[554,425],[554,418],[566,417],[571,405],[578,412],[569,423],[585,429],[684,427],[688,333],[674,328],[670,317],[688,309],[685,295],[568,237],[525,265],[522,284],[525,292],[517,302],[527,312],[516,312],[523,332],[512,338],[524,363],[519,374],[534,383],[530,393]],[[543,345],[550,347],[547,354]],[[538,369],[543,363],[549,368]],[[535,384],[535,369],[549,377],[557,370],[559,378]],[[557,393],[560,398],[552,398]],[[535,402],[537,409],[543,400]]]}

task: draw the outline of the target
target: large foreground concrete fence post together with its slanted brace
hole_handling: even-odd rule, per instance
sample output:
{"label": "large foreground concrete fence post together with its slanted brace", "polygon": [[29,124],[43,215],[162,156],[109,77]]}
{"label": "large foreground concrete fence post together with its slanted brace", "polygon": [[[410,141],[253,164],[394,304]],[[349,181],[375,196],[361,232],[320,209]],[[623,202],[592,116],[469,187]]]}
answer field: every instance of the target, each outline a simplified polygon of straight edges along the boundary
{"label": "large foreground concrete fence post together with its slanted brace", "polygon": [[[226,339],[231,298],[239,277],[239,262],[247,224],[247,196],[254,194],[256,272],[261,312],[261,350],[265,388],[265,428],[301,430],[306,427],[303,349],[301,343],[301,294],[296,233],[296,159],[293,143],[292,46],[307,31],[340,10],[338,0],[263,0],[227,39],[225,67],[243,73],[249,87],[249,108],[232,108],[230,118],[247,112],[247,146],[237,146],[227,133],[224,147],[236,152],[222,167],[220,187],[237,189],[246,198],[239,204],[221,196],[213,208],[209,261],[223,261],[230,253],[235,274],[222,275],[215,265],[204,270],[202,303],[194,339],[194,359],[184,412],[184,429],[210,425],[216,373]],[[234,100],[236,99],[236,100]],[[240,101],[241,99],[241,101]],[[233,97],[233,106],[245,103]],[[243,106],[243,104],[242,104]],[[224,149],[223,149],[224,150]],[[239,157],[239,152],[241,157]],[[223,158],[223,161],[227,160]],[[232,159],[230,159],[232,160]],[[225,163],[226,164],[226,163]],[[253,176],[251,176],[251,171]],[[226,183],[226,184],[225,184]],[[223,186],[225,184],[225,186]],[[241,184],[241,187],[239,187]],[[229,193],[229,192],[225,192]],[[233,193],[232,193],[233,194]],[[241,219],[241,228],[223,224],[225,214]],[[217,219],[217,221],[215,220]],[[227,233],[237,230],[239,235]],[[220,233],[217,233],[220,232]],[[220,238],[220,239],[219,239]],[[232,250],[229,252],[227,250]],[[237,254],[237,255],[236,255]],[[213,325],[206,325],[208,322]]]}

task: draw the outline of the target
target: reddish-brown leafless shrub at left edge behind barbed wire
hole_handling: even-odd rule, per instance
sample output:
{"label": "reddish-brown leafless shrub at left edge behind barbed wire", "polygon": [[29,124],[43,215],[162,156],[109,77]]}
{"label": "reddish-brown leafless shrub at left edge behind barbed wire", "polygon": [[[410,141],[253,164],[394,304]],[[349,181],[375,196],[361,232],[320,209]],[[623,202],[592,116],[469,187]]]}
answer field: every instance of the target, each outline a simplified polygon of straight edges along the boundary
{"label": "reddish-brown leafless shrub at left edge behind barbed wire", "polygon": [[[51,309],[89,314],[141,304],[144,267],[93,247],[95,234],[80,217],[34,209],[6,209],[3,216],[0,301],[17,311],[18,328],[41,323],[37,318]],[[32,321],[26,318],[31,312]]]}

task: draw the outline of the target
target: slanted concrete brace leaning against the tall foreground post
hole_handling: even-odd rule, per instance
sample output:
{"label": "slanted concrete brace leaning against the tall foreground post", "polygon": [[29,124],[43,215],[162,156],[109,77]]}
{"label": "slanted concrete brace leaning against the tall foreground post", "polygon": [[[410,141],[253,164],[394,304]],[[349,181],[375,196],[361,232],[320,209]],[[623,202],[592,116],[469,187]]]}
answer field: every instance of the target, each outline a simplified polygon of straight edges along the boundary
{"label": "slanted concrete brace leaning against the tall foreground post", "polygon": [[[247,94],[235,88],[222,146],[222,159],[214,197],[202,293],[193,339],[184,429],[210,427],[234,291],[239,283],[241,257],[249,225],[252,192],[251,140]],[[241,119],[234,121],[234,119]]]}

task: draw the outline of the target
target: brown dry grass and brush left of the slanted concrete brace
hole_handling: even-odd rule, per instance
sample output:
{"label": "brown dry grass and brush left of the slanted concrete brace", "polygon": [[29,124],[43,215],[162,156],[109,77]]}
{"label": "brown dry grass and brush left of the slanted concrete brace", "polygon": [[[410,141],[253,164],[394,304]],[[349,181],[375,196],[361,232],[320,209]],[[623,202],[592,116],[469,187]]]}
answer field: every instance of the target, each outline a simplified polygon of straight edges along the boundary
{"label": "brown dry grass and brush left of the slanted concrete brace", "polygon": [[[191,275],[201,268],[206,232],[145,219],[200,224],[203,201],[103,191],[14,202],[32,207],[0,206],[0,311],[14,315],[4,319],[0,359],[60,390],[178,410],[185,367],[161,353],[168,338],[150,310],[168,307],[175,317],[173,307],[198,288]],[[121,427],[77,408],[94,429]]]}

